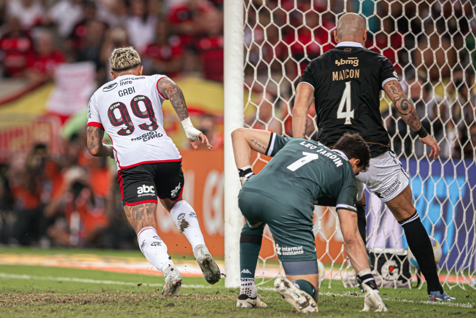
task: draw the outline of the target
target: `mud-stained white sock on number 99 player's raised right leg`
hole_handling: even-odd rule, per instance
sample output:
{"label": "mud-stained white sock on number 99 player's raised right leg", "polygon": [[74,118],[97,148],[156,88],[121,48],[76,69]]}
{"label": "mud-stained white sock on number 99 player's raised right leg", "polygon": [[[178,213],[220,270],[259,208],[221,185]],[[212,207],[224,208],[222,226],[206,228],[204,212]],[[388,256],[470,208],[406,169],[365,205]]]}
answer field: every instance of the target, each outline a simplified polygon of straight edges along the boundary
{"label": "mud-stained white sock on number 99 player's raised right leg", "polygon": [[180,200],[174,204],[170,210],[170,215],[174,220],[177,229],[182,231],[188,242],[192,246],[192,250],[197,245],[205,245],[202,231],[198,225],[197,214],[191,205],[185,200]]}

